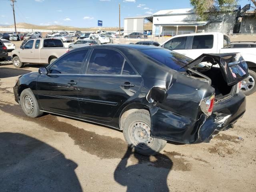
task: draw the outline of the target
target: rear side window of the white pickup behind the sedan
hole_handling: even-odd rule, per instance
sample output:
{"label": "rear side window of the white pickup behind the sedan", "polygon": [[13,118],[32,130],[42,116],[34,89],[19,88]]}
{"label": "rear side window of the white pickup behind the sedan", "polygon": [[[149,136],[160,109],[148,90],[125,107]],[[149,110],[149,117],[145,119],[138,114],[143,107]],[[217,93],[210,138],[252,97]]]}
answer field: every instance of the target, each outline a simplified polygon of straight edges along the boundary
{"label": "rear side window of the white pickup behind the sedan", "polygon": [[213,35],[196,35],[193,38],[192,49],[211,49]]}

